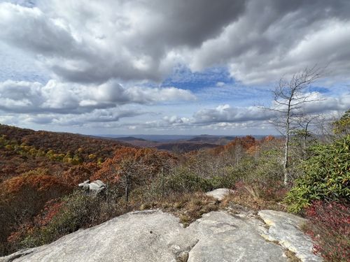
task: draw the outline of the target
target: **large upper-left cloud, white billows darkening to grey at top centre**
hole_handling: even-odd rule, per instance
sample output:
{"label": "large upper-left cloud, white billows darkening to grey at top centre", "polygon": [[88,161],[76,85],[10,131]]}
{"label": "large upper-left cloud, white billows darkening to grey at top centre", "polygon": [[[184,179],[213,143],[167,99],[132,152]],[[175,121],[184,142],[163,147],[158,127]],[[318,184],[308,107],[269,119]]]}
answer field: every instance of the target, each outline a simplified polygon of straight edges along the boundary
{"label": "large upper-left cloud, white billows darkening to grey at top centre", "polygon": [[66,80],[105,82],[160,79],[169,51],[220,34],[244,1],[39,1],[38,8],[3,3],[1,10],[3,41],[42,54]]}

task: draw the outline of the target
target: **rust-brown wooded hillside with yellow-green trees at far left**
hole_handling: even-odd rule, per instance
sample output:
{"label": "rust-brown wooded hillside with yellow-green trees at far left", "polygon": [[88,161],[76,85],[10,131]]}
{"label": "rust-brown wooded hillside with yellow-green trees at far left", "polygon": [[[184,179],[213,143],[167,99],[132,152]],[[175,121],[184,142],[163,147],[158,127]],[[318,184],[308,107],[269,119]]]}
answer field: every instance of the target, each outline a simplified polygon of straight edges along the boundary
{"label": "rust-brown wooded hillside with yellow-green trees at far left", "polygon": [[80,163],[102,163],[124,146],[130,145],[0,124],[0,182],[38,167],[50,168],[56,174]]}

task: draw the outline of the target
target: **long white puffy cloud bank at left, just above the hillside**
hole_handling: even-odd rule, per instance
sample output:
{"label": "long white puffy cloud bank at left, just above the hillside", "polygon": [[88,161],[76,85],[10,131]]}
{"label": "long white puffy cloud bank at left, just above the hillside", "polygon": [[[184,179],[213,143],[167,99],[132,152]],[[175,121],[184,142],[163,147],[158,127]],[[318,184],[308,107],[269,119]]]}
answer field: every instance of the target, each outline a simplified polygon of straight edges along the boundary
{"label": "long white puffy cloud bank at left, just above the hillside", "polygon": [[6,112],[80,114],[132,103],[192,99],[195,96],[188,90],[175,87],[125,88],[115,80],[102,85],[80,85],[57,80],[50,80],[46,85],[13,80],[0,82],[0,110]]}

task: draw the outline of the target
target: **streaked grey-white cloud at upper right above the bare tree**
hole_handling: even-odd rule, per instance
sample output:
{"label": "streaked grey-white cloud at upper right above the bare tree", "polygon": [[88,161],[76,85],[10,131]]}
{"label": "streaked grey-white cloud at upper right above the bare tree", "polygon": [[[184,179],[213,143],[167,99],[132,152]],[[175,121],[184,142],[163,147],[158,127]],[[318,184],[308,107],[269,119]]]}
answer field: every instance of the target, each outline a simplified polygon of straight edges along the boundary
{"label": "streaked grey-white cloud at upper right above the bare tree", "polygon": [[350,65],[349,1],[249,1],[246,13],[195,50],[193,68],[222,63],[246,83],[277,80],[314,64],[332,76]]}

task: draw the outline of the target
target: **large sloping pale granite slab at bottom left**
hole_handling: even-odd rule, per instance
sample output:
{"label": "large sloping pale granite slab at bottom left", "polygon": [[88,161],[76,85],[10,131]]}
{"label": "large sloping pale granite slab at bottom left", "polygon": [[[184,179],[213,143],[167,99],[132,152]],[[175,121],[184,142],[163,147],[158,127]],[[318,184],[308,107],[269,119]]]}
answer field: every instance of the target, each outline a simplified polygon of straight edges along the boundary
{"label": "large sloping pale granite slab at bottom left", "polygon": [[177,254],[190,250],[196,242],[178,218],[153,210],[124,214],[76,231],[33,252],[29,249],[27,253],[31,253],[13,261],[176,261]]}

